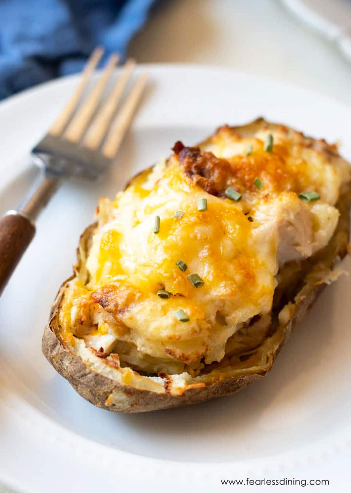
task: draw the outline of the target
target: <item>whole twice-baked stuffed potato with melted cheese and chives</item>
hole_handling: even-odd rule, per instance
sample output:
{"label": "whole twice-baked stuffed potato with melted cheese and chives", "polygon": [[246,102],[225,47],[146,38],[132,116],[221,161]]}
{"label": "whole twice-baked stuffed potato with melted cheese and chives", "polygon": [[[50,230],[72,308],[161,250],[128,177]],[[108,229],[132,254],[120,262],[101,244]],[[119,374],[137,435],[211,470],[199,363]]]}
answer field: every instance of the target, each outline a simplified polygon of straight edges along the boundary
{"label": "whole twice-baked stuffed potato with melted cheese and chives", "polygon": [[143,412],[271,369],[349,243],[350,165],[262,118],[134,177],[80,238],[46,358],[91,403]]}

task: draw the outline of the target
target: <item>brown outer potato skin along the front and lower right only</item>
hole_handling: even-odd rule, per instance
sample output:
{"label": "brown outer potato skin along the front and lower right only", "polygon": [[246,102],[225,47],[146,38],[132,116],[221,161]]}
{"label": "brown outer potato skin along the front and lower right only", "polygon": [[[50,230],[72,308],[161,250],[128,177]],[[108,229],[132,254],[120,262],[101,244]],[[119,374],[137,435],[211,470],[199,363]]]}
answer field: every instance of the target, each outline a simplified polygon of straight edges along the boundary
{"label": "brown outer potato skin along the front and lower right only", "polygon": [[[52,310],[52,317],[45,326],[42,338],[42,352],[55,370],[70,382],[78,394],[95,406],[107,409],[108,411],[142,413],[199,404],[215,397],[234,394],[254,380],[263,378],[271,369],[276,355],[288,339],[296,322],[305,317],[308,309],[324,286],[325,284],[321,284],[314,288],[309,296],[297,307],[296,314],[285,327],[280,343],[274,348],[268,370],[239,378],[224,379],[202,388],[191,388],[179,396],[173,396],[167,393],[160,394],[121,385],[113,379],[88,368],[82,359],[74,354],[56,335],[58,331],[57,317],[61,296],[56,300]],[[112,395],[113,399],[110,398]],[[109,398],[111,404],[109,403]]]}

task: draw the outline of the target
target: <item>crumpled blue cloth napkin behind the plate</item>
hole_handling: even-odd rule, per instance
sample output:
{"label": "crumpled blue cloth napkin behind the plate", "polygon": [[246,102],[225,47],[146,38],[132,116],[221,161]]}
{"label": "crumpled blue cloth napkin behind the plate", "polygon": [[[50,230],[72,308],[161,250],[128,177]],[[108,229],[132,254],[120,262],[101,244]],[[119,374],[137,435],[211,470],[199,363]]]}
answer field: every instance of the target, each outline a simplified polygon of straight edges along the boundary
{"label": "crumpled blue cloth napkin behind the plate", "polygon": [[0,0],[0,99],[81,70],[97,45],[123,57],[155,2]]}

